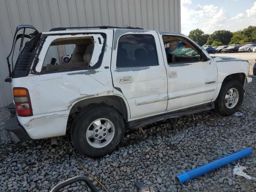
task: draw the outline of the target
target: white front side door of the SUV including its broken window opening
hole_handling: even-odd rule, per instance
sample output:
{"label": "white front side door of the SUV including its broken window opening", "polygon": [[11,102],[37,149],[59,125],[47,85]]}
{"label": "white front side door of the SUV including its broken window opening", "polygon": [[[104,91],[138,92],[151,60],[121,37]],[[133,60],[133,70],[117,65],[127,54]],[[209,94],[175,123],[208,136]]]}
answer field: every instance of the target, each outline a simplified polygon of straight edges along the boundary
{"label": "white front side door of the SUV including its broken window opening", "polygon": [[159,35],[168,75],[168,107],[174,111],[211,102],[216,92],[217,67],[184,36]]}

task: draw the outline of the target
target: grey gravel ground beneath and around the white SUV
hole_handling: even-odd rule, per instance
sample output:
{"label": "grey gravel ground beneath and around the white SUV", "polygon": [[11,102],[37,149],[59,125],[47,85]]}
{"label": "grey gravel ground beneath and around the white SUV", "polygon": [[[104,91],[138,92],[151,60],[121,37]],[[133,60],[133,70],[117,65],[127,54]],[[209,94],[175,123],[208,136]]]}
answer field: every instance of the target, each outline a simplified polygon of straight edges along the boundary
{"label": "grey gravel ground beneath and around the white SUV", "polygon": [[[159,192],[254,192],[256,181],[232,174],[239,163],[256,177],[256,77],[251,77],[240,116],[224,117],[210,111],[163,120],[146,126],[146,136],[127,131],[111,155],[94,160],[78,154],[78,158],[110,192],[136,191],[136,180]],[[0,191],[46,192],[67,178],[86,175],[66,141],[55,149],[47,139],[11,142],[4,130],[8,118],[8,110],[0,108]],[[253,155],[184,184],[174,182],[176,174],[247,147]],[[99,184],[96,187],[102,191]],[[77,182],[64,191],[87,191],[87,187]]]}

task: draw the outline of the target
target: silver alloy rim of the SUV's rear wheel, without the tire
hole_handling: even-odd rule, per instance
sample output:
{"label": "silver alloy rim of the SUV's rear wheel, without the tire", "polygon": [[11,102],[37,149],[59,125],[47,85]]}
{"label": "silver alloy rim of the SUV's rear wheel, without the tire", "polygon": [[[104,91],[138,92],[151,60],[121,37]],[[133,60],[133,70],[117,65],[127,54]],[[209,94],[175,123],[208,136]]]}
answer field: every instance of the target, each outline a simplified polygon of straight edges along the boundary
{"label": "silver alloy rim of the SUV's rear wheel, without the tire", "polygon": [[114,124],[106,118],[94,120],[86,130],[86,140],[94,148],[107,146],[114,138]]}

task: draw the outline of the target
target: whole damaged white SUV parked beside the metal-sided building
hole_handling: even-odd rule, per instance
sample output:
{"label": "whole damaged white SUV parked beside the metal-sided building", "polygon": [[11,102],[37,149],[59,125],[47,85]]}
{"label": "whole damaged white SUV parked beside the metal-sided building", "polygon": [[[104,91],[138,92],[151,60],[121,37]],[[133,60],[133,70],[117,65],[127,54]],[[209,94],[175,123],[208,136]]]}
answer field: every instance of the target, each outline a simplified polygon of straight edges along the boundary
{"label": "whole damaged white SUV parked beside the metal-sided building", "polygon": [[39,33],[18,26],[15,35],[13,47],[30,40],[14,70],[8,61],[16,110],[5,125],[11,140],[70,130],[76,149],[94,158],[113,152],[125,127],[212,109],[231,115],[252,81],[246,60],[211,57],[179,33],[107,26]]}

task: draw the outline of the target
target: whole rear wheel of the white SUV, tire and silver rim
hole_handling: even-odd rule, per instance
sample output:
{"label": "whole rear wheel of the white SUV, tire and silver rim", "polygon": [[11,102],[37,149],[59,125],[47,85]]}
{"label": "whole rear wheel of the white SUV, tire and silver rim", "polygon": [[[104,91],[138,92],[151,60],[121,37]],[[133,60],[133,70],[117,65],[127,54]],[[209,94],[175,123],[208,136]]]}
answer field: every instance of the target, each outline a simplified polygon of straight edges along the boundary
{"label": "whole rear wheel of the white SUV, tire and silver rim", "polygon": [[102,157],[112,153],[124,137],[124,121],[108,106],[91,106],[75,118],[71,138],[85,156]]}

